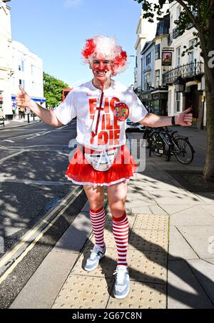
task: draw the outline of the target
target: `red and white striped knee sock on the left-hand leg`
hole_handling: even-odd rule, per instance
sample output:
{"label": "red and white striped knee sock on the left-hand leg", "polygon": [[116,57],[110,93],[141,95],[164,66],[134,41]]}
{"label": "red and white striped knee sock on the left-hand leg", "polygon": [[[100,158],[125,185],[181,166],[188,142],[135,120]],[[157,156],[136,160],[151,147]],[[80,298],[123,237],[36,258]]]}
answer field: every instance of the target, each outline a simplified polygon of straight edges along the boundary
{"label": "red and white striped knee sock on the left-hand leg", "polygon": [[106,221],[106,213],[104,207],[93,211],[90,209],[91,225],[95,236],[96,245],[101,248],[105,247],[104,244],[104,225]]}

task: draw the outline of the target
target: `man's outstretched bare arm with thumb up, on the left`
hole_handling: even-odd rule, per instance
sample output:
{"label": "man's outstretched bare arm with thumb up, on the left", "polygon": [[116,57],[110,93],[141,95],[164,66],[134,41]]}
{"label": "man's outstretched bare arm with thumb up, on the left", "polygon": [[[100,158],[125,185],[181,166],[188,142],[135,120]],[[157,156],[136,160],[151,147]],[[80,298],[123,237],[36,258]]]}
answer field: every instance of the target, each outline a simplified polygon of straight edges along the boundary
{"label": "man's outstretched bare arm with thumb up, on the left", "polygon": [[42,106],[40,106],[38,103],[36,103],[34,100],[31,100],[29,95],[24,91],[24,88],[19,86],[19,90],[21,91],[16,95],[16,104],[20,107],[28,107],[33,111],[36,116],[39,116],[44,123],[47,123],[48,125],[52,125],[53,127],[60,127],[63,125],[58,119],[56,118],[56,115],[54,111],[52,110],[46,110]]}

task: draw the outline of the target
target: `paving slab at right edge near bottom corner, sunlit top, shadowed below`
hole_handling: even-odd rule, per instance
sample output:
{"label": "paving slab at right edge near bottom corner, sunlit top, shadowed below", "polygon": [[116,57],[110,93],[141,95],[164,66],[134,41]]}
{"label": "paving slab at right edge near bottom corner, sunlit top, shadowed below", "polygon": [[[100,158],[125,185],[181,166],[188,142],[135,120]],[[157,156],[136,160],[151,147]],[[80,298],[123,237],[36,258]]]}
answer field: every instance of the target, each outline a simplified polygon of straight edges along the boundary
{"label": "paving slab at right edge near bottom corner, sunlit top, shadowed below", "polygon": [[205,260],[188,260],[188,264],[214,304],[214,264]]}

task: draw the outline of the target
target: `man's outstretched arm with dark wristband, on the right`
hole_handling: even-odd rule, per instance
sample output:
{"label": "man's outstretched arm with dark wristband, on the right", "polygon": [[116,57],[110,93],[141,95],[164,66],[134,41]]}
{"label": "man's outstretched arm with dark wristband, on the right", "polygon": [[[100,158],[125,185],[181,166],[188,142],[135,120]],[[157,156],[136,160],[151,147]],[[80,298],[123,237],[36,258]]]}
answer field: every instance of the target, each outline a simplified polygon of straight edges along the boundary
{"label": "man's outstretched arm with dark wristband, on the right", "polygon": [[[176,125],[191,125],[193,121],[193,114],[189,113],[191,108],[186,109],[178,116],[175,116]],[[146,125],[148,127],[165,127],[165,125],[172,124],[172,117],[168,116],[158,116],[153,113],[148,113],[143,120],[140,121],[141,125]]]}

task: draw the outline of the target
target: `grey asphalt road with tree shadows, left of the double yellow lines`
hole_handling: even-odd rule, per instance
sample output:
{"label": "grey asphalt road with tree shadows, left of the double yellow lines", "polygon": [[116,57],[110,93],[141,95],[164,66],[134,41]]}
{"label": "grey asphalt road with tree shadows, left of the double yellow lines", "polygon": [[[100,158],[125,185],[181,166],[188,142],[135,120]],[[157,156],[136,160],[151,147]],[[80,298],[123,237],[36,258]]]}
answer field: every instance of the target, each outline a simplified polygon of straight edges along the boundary
{"label": "grey asphalt road with tree shadows, left of the double yellow lines", "polygon": [[75,188],[64,176],[75,137],[76,121],[0,131],[1,256]]}

